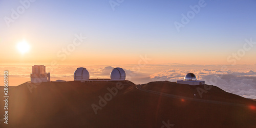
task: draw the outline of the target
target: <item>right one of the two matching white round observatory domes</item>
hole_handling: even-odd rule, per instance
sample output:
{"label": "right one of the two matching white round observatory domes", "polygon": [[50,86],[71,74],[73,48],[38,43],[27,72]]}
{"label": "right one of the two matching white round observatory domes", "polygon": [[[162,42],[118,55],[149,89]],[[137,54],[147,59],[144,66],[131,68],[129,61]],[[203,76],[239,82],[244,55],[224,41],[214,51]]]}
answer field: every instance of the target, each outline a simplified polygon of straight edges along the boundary
{"label": "right one of the two matching white round observatory domes", "polygon": [[114,68],[110,73],[111,80],[125,80],[125,71],[120,68]]}

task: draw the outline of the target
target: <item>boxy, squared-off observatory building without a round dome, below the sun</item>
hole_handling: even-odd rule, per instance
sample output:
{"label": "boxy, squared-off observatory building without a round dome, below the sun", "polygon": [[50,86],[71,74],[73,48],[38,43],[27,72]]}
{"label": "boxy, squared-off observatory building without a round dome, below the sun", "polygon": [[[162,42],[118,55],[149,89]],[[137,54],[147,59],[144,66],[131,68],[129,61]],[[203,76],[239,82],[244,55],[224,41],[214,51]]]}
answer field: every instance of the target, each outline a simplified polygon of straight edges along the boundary
{"label": "boxy, squared-off observatory building without a round dome, below the sun", "polygon": [[31,83],[50,82],[50,72],[46,73],[46,66],[34,65],[32,66],[32,73],[30,74]]}

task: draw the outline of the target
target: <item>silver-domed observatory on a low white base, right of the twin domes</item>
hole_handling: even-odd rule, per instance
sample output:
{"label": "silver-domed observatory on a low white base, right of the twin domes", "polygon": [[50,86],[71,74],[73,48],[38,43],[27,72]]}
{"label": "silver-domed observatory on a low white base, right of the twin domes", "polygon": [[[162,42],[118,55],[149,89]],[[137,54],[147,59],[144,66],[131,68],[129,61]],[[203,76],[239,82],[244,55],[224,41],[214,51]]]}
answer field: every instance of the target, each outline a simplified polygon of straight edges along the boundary
{"label": "silver-domed observatory on a low white base, right of the twin domes", "polygon": [[204,81],[197,81],[197,77],[193,73],[187,73],[184,77],[184,80],[177,81],[178,84],[187,84],[187,85],[204,85]]}

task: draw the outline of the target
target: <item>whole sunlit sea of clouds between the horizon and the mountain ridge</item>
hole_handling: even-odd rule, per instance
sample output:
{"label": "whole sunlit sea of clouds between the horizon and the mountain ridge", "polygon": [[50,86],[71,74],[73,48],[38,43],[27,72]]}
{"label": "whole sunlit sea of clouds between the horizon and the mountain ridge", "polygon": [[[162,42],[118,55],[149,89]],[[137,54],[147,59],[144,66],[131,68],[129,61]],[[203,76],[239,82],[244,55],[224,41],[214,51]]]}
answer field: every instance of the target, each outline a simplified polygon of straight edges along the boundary
{"label": "whole sunlit sea of clouds between the horizon and the mountain ridge", "polygon": [[[87,67],[90,78],[109,79],[110,72],[114,67],[122,67],[126,72],[126,80],[135,84],[145,84],[152,81],[176,82],[177,80],[183,80],[186,73],[193,72],[198,80],[203,80],[206,84],[217,86],[224,91],[246,98],[256,99],[256,65],[232,66],[225,70],[222,70],[221,66],[185,64],[146,65],[136,70],[133,69],[133,65],[59,65],[55,69],[49,67],[49,65],[46,65],[46,71],[51,72],[52,81],[74,80],[73,73],[77,67]],[[27,78],[29,80],[31,65],[0,66],[0,70],[4,71],[6,69],[10,71],[10,77]],[[0,75],[0,78],[3,78],[3,75]]]}

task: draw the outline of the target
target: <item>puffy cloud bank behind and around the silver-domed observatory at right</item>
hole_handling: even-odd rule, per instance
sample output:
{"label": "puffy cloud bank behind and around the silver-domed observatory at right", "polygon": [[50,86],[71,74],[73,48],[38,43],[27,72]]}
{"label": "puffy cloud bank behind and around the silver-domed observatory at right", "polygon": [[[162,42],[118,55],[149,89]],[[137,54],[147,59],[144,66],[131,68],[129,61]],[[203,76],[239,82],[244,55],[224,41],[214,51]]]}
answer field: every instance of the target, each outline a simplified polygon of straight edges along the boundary
{"label": "puffy cloud bank behind and around the silver-domed observatory at right", "polygon": [[150,75],[152,81],[173,81],[183,80],[187,72],[193,72],[198,80],[206,84],[215,85],[219,88],[246,98],[256,98],[256,73],[248,71],[231,70],[181,70],[169,69]]}

